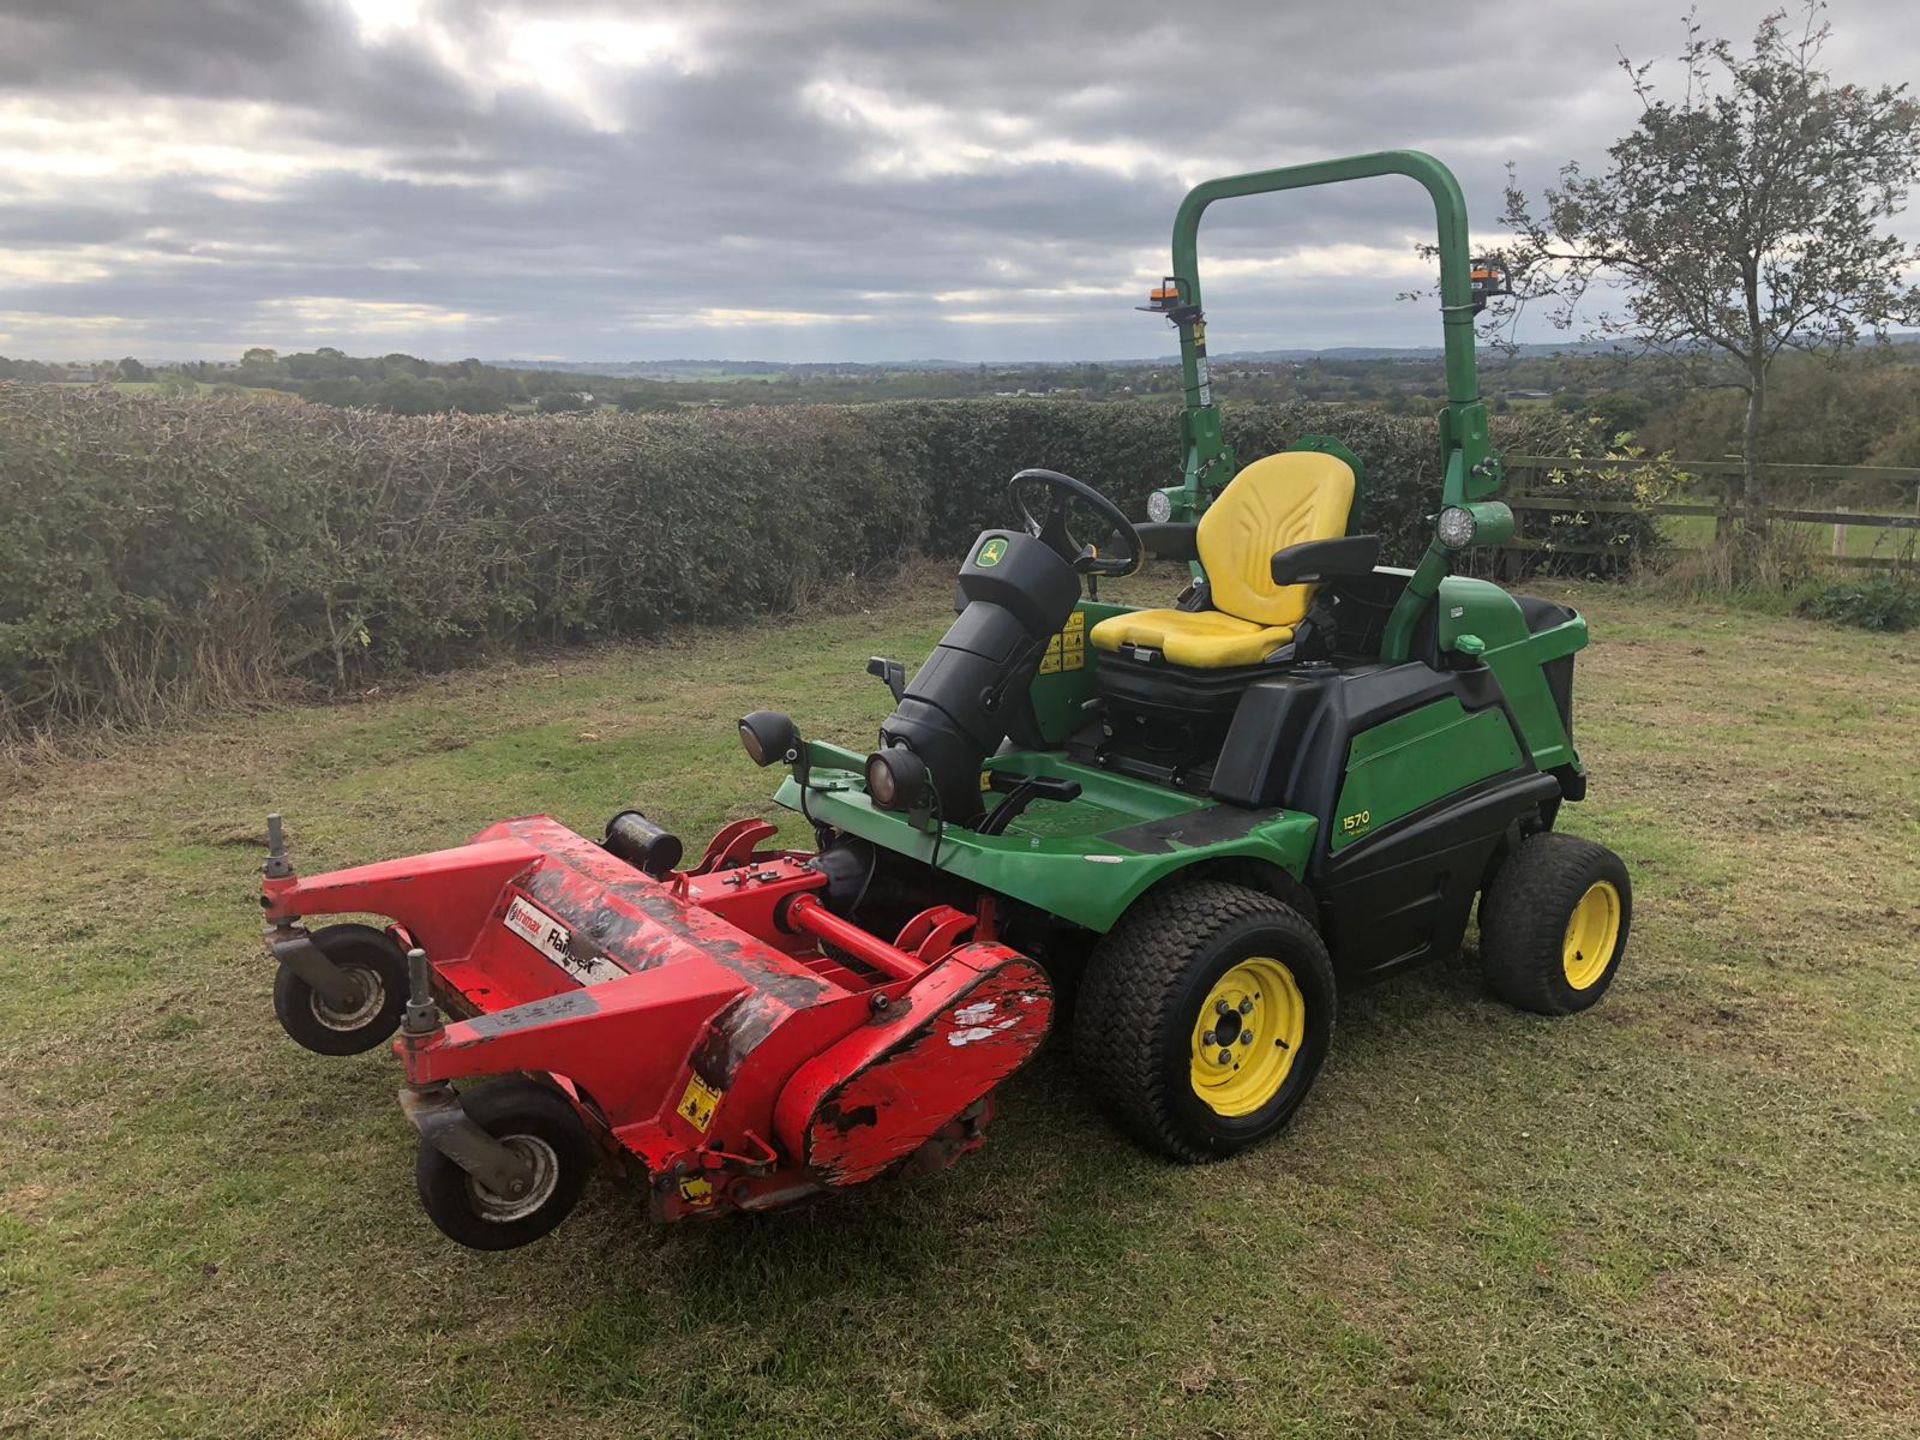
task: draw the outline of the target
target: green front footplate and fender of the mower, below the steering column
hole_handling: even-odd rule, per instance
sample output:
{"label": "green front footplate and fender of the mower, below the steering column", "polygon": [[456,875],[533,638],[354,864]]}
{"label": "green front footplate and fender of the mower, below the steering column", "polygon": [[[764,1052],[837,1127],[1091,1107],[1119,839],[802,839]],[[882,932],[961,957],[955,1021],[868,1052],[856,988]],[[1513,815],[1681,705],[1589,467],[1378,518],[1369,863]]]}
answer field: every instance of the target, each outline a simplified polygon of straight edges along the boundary
{"label": "green front footplate and fender of the mower, below the steering column", "polygon": [[[814,820],[899,854],[933,860],[931,826],[920,829],[904,814],[874,808],[860,778],[866,756],[822,741],[808,741],[806,749],[812,764],[806,812]],[[1112,929],[1146,889],[1200,860],[1265,860],[1298,877],[1319,828],[1313,816],[1292,810],[1240,810],[1236,814],[1250,822],[1242,833],[1212,845],[1171,839],[1169,849],[1156,852],[1116,841],[1112,831],[1177,816],[1198,818],[1219,804],[1052,753],[998,755],[987,768],[1077,780],[1081,799],[1071,804],[1037,801],[1006,835],[977,835],[948,826],[939,841],[939,868],[1096,933]],[[774,799],[799,810],[799,781],[789,776]]]}

